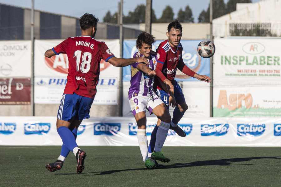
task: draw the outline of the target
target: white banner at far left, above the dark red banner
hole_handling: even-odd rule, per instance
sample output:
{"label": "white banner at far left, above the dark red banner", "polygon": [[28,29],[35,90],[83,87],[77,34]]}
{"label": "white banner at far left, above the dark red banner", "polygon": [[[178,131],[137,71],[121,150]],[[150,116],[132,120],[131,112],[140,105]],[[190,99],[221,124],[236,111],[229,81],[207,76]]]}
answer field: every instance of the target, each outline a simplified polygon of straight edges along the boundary
{"label": "white banner at far left, above the dark red banner", "polygon": [[1,41],[0,77],[31,77],[31,41]]}

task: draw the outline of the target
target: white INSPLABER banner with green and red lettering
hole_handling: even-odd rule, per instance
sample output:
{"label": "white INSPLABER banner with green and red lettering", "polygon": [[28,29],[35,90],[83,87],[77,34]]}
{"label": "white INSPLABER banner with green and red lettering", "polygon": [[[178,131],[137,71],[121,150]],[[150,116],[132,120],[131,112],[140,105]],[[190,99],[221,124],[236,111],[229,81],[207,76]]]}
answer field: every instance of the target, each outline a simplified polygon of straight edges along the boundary
{"label": "white INSPLABER banner with green and red lettering", "polygon": [[276,38],[215,38],[214,86],[281,85],[279,41],[281,39]]}

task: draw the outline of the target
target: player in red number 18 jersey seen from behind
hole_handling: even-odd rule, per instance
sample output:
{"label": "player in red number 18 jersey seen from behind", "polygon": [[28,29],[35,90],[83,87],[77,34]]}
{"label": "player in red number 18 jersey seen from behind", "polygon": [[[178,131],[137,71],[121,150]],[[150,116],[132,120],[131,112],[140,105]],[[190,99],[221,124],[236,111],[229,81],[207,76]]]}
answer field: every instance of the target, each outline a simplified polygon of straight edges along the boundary
{"label": "player in red number 18 jersey seen from behind", "polygon": [[70,151],[76,156],[77,173],[84,170],[86,152],[76,143],[77,129],[83,119],[90,117],[89,112],[99,81],[101,59],[118,67],[141,62],[148,64],[145,57],[116,58],[104,42],[96,41],[94,36],[98,21],[92,14],[84,14],[79,20],[81,36],[69,37],[45,52],[48,58],[60,53],[67,54],[69,61],[67,84],[57,114],[57,132],[62,138],[62,150],[57,161],[46,165],[49,171],[61,169]]}

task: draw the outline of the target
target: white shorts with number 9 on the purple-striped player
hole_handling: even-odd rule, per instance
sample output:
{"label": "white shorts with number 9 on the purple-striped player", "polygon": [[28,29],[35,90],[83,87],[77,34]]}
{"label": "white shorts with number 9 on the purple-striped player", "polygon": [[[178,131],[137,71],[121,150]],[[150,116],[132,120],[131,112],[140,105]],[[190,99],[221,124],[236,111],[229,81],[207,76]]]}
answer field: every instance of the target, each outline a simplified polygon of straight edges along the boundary
{"label": "white shorts with number 9 on the purple-striped player", "polygon": [[145,108],[152,114],[152,110],[162,103],[163,101],[155,93],[152,96],[138,95],[129,99],[129,104],[134,115],[139,112],[145,112]]}

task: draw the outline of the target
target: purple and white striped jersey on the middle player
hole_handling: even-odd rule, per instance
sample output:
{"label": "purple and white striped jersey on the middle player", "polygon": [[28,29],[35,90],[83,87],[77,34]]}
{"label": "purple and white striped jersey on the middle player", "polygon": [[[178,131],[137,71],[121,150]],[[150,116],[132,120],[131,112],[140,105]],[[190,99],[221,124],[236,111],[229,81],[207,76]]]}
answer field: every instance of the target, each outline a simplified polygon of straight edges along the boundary
{"label": "purple and white striped jersey on the middle player", "polygon": [[[133,58],[142,57],[140,51],[136,52]],[[147,65],[151,70],[156,69],[157,65],[157,54],[155,51],[151,51],[149,59],[149,65]],[[129,89],[129,99],[132,97],[138,96],[151,96],[153,95],[153,83],[155,77],[149,77],[148,74],[145,74],[141,70],[137,69],[139,63],[131,64],[131,86]]]}

